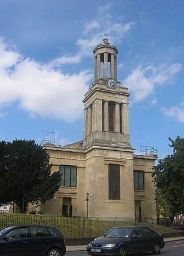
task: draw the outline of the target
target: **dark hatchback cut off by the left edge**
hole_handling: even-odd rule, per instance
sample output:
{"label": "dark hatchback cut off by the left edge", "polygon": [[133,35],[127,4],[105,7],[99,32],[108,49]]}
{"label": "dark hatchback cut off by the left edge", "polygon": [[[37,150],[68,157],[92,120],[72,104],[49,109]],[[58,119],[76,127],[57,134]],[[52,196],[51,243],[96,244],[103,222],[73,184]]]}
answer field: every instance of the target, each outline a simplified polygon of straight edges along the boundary
{"label": "dark hatchback cut off by the left edge", "polygon": [[63,256],[64,236],[55,227],[16,225],[0,230],[0,255]]}

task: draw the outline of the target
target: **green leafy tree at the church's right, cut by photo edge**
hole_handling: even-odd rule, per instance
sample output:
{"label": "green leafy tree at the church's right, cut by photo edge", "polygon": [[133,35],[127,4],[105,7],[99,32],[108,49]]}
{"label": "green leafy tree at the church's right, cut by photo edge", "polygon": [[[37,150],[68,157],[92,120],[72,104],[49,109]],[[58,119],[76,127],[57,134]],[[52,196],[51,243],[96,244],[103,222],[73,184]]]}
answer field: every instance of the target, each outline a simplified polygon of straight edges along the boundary
{"label": "green leafy tree at the church's right, cut by photo edge", "polygon": [[162,199],[160,202],[165,203],[163,210],[170,214],[168,217],[173,222],[177,213],[184,212],[184,139],[179,136],[175,140],[168,139],[173,154],[159,159],[159,164],[153,168],[152,177],[154,177],[156,193]]}

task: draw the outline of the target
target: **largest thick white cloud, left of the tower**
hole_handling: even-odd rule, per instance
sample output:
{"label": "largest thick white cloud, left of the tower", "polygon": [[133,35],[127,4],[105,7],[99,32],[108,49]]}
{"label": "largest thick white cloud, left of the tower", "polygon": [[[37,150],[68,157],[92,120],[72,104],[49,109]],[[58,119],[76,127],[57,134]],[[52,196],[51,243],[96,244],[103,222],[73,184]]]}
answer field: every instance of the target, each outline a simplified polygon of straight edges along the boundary
{"label": "largest thick white cloud, left of the tower", "polygon": [[[31,59],[24,59],[1,41],[0,106],[18,101],[22,109],[41,117],[74,121],[83,116],[83,95],[93,77],[88,70],[63,74]],[[67,109],[67,111],[66,111]]]}

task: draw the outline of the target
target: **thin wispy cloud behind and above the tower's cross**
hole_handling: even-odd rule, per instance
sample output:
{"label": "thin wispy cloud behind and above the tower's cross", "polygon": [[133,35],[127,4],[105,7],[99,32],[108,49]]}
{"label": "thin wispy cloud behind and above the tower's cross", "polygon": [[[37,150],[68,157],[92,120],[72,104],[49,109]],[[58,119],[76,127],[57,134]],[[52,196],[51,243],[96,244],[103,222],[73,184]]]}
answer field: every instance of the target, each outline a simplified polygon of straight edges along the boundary
{"label": "thin wispy cloud behind and above the tower's cross", "polygon": [[[135,22],[116,22],[113,15],[110,14],[110,4],[99,6],[97,16],[86,22],[83,30],[83,38],[76,41],[78,52],[76,54],[67,54],[52,60],[51,64],[60,66],[62,64],[74,64],[81,62],[84,56],[92,56],[94,47],[102,43],[104,33],[108,33],[109,43],[114,45],[120,43],[122,38],[135,28]],[[105,15],[104,15],[105,13]]]}

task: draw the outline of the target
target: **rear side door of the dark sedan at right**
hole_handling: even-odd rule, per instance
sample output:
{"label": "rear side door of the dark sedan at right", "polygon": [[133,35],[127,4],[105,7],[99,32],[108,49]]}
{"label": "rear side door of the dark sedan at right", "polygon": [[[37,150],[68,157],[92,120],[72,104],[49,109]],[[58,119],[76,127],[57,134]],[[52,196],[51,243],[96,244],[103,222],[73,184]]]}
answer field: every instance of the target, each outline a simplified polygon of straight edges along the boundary
{"label": "rear side door of the dark sedan at right", "polygon": [[148,227],[143,227],[142,231],[143,231],[144,249],[145,251],[152,251],[155,243],[155,234]]}

